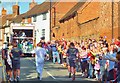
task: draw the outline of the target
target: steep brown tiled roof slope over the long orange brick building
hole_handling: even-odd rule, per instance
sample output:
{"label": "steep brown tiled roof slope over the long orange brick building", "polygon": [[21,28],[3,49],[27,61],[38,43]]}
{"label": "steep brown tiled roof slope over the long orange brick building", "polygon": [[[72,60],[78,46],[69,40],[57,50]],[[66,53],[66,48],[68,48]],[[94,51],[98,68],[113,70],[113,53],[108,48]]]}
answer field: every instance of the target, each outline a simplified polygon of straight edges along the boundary
{"label": "steep brown tiled roof slope over the long orange brick building", "polygon": [[70,9],[60,20],[59,22],[65,21],[70,19],[69,17],[74,16],[76,12],[79,10],[79,8],[84,4],[85,2],[78,2],[76,5]]}

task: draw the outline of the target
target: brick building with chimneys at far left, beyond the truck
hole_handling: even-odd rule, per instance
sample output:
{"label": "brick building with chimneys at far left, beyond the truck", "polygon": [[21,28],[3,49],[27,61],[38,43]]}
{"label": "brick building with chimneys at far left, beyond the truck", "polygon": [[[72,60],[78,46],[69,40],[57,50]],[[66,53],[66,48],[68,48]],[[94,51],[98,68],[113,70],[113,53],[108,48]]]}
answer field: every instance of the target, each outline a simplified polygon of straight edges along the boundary
{"label": "brick building with chimneys at far left, beyond the truck", "polygon": [[9,33],[9,24],[11,23],[12,19],[19,15],[19,6],[17,4],[13,5],[12,7],[13,13],[7,14],[7,10],[5,8],[1,11],[0,16],[0,46],[5,42],[6,36]]}

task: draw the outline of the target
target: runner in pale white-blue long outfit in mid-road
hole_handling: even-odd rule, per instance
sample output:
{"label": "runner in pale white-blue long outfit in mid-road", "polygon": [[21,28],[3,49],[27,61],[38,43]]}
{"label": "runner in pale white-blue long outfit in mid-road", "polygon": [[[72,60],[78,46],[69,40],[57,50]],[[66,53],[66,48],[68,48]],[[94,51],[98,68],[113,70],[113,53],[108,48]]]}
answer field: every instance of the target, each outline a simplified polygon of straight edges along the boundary
{"label": "runner in pale white-blue long outfit in mid-road", "polygon": [[42,48],[42,43],[38,43],[37,47],[34,49],[34,56],[35,56],[35,60],[36,60],[36,70],[38,73],[39,80],[42,80],[44,59],[45,59],[46,55],[47,55],[47,53],[46,53],[45,48]]}

